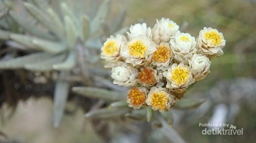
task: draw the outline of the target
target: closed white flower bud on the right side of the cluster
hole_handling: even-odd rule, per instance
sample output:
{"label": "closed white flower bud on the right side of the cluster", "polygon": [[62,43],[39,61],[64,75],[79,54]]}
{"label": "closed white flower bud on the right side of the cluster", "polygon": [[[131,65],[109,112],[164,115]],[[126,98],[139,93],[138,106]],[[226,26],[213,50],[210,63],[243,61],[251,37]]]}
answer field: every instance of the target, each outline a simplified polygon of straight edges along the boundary
{"label": "closed white flower bud on the right side of the cluster", "polygon": [[191,67],[193,78],[195,81],[199,81],[210,73],[211,62],[206,56],[195,53],[189,61],[189,66]]}

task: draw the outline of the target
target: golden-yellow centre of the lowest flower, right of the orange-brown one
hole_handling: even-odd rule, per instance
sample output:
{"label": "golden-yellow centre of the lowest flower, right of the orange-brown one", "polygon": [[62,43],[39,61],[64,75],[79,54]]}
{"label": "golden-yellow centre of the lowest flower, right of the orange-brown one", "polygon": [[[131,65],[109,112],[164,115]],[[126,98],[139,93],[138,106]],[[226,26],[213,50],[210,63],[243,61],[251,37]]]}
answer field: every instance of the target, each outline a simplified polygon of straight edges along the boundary
{"label": "golden-yellow centre of the lowest flower, right of the orange-brown one", "polygon": [[166,104],[168,103],[168,96],[165,92],[155,92],[151,96],[150,103],[152,107],[155,107],[157,109],[166,109]]}

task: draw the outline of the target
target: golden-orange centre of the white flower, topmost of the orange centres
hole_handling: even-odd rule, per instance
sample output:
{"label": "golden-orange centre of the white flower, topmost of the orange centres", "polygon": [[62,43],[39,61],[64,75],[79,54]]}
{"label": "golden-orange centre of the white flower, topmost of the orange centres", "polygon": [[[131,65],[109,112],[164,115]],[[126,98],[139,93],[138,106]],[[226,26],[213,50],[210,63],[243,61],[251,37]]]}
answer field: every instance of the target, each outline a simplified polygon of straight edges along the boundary
{"label": "golden-orange centre of the white flower, topmost of the orange centres", "polygon": [[166,45],[160,45],[153,53],[152,59],[156,62],[166,62],[171,56],[171,49]]}

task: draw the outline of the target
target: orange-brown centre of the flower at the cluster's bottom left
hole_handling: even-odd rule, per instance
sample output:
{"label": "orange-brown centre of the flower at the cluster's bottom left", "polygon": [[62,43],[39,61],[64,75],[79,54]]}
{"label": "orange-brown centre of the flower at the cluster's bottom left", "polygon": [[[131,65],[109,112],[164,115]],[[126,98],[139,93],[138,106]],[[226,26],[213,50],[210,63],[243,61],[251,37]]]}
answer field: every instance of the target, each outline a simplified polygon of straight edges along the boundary
{"label": "orange-brown centre of the flower at the cluster's bottom left", "polygon": [[130,99],[133,106],[142,105],[146,100],[145,93],[141,92],[136,87],[132,87],[131,90],[129,90],[127,98]]}

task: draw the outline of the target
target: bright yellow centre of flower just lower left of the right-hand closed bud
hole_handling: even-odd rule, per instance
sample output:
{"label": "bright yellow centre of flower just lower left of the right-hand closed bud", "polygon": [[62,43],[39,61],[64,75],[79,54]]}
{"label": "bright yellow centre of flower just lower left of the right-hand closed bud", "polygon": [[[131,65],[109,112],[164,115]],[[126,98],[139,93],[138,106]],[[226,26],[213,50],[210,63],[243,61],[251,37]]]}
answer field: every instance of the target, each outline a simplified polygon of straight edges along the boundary
{"label": "bright yellow centre of flower just lower left of the right-hand closed bud", "polygon": [[171,79],[178,86],[182,86],[189,79],[189,70],[178,66],[172,71]]}

